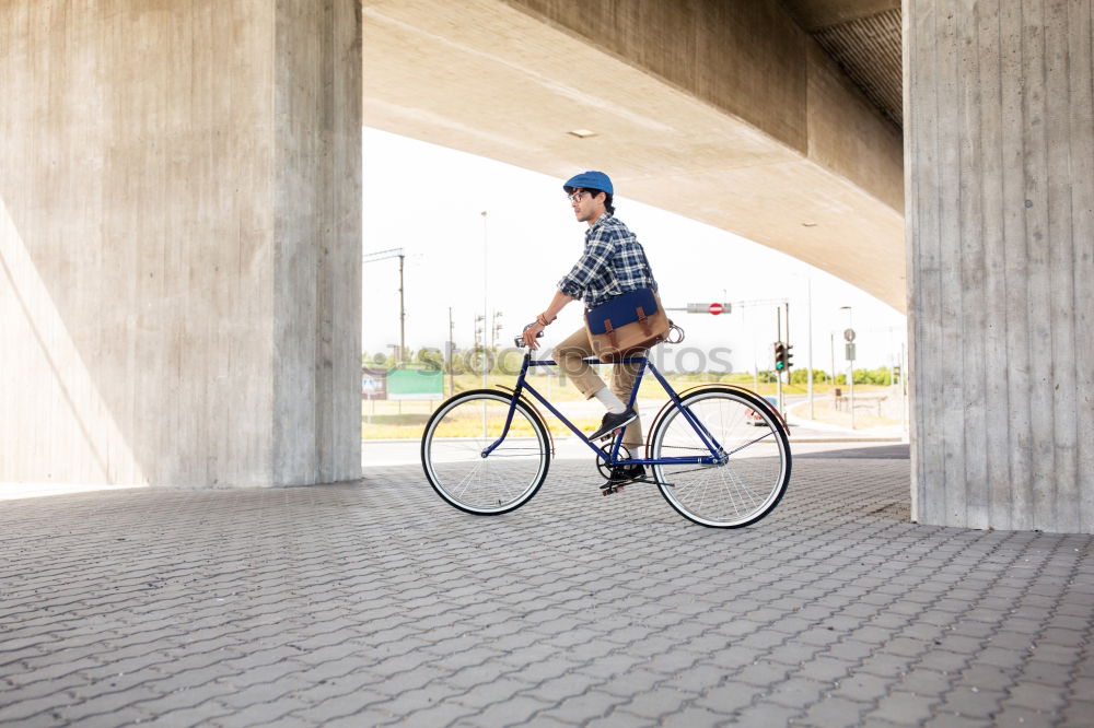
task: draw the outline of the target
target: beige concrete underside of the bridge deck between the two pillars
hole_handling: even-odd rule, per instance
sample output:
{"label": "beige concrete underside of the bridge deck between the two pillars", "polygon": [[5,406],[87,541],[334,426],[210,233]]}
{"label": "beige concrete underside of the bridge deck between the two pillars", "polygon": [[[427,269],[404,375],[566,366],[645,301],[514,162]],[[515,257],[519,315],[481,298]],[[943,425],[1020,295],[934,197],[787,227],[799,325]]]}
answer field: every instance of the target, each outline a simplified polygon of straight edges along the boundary
{"label": "beige concrete underside of the bridge deck between the two pillars", "polygon": [[368,126],[603,168],[905,312],[900,131],[778,2],[364,0],[363,23]]}

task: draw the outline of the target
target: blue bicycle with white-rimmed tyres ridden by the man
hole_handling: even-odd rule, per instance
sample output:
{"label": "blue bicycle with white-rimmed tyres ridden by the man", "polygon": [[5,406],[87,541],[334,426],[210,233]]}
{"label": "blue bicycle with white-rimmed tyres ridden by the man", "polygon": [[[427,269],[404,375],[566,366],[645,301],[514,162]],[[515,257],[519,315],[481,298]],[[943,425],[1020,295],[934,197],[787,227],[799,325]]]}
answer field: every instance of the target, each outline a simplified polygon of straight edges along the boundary
{"label": "blue bicycle with white-rimmed tyres ridden by the man", "polygon": [[[515,343],[524,345],[521,338]],[[509,513],[532,500],[547,478],[555,443],[527,394],[593,450],[605,478],[614,466],[648,466],[653,478],[645,482],[656,484],[668,505],[693,522],[742,528],[771,513],[790,483],[790,443],[779,412],[732,385],[677,394],[648,356],[625,361],[639,365],[629,407],[647,369],[668,395],[650,424],[645,457],[627,451],[621,430],[603,447],[590,441],[527,381],[531,367],[557,365],[533,360],[528,351],[515,387],[461,392],[430,416],[421,438],[430,485],[449,504],[479,516]],[[763,428],[758,434],[757,426]],[[615,490],[609,486],[604,494]]]}

